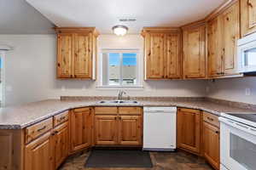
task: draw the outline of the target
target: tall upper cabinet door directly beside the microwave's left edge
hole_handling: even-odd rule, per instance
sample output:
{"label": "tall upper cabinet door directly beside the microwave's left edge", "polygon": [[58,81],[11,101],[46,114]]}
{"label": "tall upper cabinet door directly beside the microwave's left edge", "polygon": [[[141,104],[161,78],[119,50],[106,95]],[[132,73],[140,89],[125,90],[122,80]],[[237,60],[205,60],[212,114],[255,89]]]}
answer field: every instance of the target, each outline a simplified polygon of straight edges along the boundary
{"label": "tall upper cabinet door directly beside the microwave's left edge", "polygon": [[239,2],[228,8],[221,15],[223,34],[223,71],[225,75],[236,74],[236,42],[240,37],[239,31]]}

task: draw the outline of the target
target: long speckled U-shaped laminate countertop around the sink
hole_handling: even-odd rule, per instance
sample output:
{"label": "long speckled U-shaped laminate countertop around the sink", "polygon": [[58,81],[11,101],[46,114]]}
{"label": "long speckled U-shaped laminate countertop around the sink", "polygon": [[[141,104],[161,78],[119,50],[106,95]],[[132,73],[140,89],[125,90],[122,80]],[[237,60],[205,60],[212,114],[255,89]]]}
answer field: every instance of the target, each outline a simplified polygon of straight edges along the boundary
{"label": "long speckled U-shaped laminate countertop around the sink", "polygon": [[0,109],[0,129],[21,129],[62,111],[87,106],[177,106],[207,111],[214,115],[221,112],[253,112],[249,109],[217,104],[211,101],[153,101],[137,100],[137,104],[100,104],[99,100],[61,100],[47,99],[26,105],[17,105]]}

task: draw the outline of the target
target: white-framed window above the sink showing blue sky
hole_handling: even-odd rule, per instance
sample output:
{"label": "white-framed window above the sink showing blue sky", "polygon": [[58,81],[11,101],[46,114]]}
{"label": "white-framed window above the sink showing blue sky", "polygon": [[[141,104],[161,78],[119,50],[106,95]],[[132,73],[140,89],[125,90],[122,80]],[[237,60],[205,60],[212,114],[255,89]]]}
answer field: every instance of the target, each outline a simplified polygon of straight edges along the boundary
{"label": "white-framed window above the sink showing blue sky", "polygon": [[108,50],[102,53],[102,86],[137,87],[138,52]]}

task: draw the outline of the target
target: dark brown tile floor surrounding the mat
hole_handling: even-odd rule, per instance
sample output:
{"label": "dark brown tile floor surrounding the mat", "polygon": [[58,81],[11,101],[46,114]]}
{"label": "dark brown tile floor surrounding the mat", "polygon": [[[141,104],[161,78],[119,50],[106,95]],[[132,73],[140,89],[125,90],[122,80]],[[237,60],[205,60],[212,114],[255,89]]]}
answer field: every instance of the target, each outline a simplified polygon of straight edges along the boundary
{"label": "dark brown tile floor surrounding the mat", "polygon": [[212,170],[201,157],[183,151],[150,152],[153,168],[85,168],[84,163],[90,151],[70,156],[60,170]]}

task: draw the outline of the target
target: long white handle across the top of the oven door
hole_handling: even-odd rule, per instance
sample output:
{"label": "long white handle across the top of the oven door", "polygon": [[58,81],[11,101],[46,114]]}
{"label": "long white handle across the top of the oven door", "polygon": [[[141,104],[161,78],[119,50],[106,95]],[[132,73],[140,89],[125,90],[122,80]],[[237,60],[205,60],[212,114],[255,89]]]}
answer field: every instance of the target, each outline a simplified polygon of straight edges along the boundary
{"label": "long white handle across the top of the oven door", "polygon": [[235,127],[235,128],[238,128],[242,131],[245,131],[247,133],[251,133],[253,135],[256,135],[256,128],[247,126],[247,125],[242,124],[240,122],[231,121],[230,119],[224,118],[222,116],[218,117],[218,120],[220,122],[224,122],[227,125],[230,125],[230,127]]}

